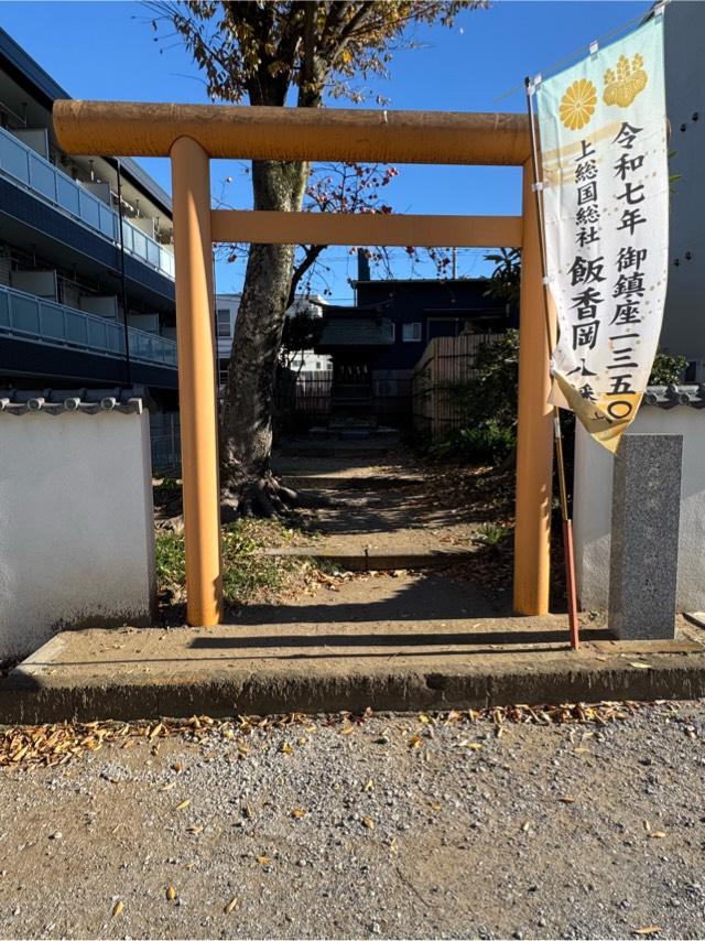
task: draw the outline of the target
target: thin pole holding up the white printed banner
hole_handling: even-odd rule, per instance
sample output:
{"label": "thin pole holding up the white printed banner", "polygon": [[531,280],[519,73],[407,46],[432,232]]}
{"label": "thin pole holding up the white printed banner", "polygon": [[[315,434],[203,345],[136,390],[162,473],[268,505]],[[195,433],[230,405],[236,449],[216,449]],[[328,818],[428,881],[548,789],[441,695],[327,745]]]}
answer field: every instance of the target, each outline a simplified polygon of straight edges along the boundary
{"label": "thin pole holding up the white printed banner", "polygon": [[[541,198],[541,185],[539,180],[539,155],[536,143],[535,117],[533,109],[533,86],[530,78],[525,79],[527,107],[529,110],[529,126],[531,131],[531,166],[533,170],[533,191],[536,199],[536,216],[539,218],[539,251],[541,256],[541,269],[543,275],[543,313],[546,326],[546,343],[549,356],[553,353],[551,336],[551,318],[549,316],[549,289],[546,272],[546,248],[543,228],[543,202]],[[553,441],[555,445],[556,470],[558,475],[558,495],[561,502],[561,517],[563,520],[563,553],[565,558],[565,592],[568,605],[568,626],[571,631],[571,647],[577,650],[581,646],[581,632],[577,617],[577,591],[575,581],[575,552],[573,547],[573,520],[568,513],[568,494],[565,483],[565,462],[563,455],[563,434],[561,433],[561,410],[553,407]]]}

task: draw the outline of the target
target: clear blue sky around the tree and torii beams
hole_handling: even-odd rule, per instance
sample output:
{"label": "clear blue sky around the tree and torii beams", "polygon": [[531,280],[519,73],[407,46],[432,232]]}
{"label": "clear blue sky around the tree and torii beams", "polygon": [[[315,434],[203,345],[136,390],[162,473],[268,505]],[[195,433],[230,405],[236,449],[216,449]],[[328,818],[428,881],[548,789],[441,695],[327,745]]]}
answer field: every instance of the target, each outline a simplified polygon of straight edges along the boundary
{"label": "clear blue sky around the tree and torii beams", "polygon": [[[400,53],[391,80],[375,94],[390,108],[447,111],[523,111],[523,78],[552,66],[649,8],[643,0],[520,2],[497,0],[489,10],[462,13],[453,29],[424,28],[421,47]],[[205,101],[198,72],[177,40],[154,42],[149,11],[129,2],[1,2],[0,25],[76,98],[135,101]],[[513,89],[513,90],[512,90]],[[340,107],[351,107],[338,102]],[[368,105],[368,107],[375,107]],[[144,165],[170,188],[169,162]],[[400,166],[386,192],[395,212],[517,213],[519,171],[511,167]],[[249,205],[248,181],[238,167],[214,162],[214,190],[231,174],[234,205]],[[459,250],[458,273],[487,272],[482,251]],[[325,256],[333,299],[349,302],[355,260],[345,248]],[[241,266],[218,266],[218,290],[238,290]],[[399,258],[394,273],[410,274]],[[419,273],[432,274],[429,269]]]}

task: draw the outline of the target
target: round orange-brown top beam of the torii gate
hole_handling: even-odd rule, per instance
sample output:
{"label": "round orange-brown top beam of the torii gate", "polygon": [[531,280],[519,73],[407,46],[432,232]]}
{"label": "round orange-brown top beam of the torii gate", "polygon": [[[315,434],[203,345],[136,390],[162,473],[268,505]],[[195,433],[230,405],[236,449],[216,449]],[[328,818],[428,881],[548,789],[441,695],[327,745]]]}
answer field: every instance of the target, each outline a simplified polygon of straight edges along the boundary
{"label": "round orange-brown top beam of the torii gate", "polygon": [[169,156],[188,137],[210,158],[242,160],[520,166],[531,156],[529,118],[514,113],[58,100],[54,128],[74,154]]}

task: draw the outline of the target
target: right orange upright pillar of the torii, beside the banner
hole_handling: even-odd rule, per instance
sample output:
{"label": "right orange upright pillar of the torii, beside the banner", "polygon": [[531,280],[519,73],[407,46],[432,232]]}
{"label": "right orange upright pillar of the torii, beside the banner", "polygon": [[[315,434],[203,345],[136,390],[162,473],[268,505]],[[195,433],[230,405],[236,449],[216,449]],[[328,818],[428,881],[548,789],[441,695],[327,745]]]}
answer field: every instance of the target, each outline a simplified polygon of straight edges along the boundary
{"label": "right orange upright pillar of the torii, beside the banner", "polygon": [[549,610],[553,426],[539,218],[532,181],[529,160],[523,165],[522,184],[514,610],[540,615]]}

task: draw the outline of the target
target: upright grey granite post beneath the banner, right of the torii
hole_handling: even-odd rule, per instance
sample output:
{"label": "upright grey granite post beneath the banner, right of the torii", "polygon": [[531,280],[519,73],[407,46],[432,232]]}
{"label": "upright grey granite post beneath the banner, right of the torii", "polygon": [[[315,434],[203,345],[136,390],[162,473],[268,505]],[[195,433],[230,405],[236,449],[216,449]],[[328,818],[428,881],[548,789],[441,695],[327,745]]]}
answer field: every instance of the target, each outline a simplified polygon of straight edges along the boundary
{"label": "upright grey granite post beneath the banner, right of the torii", "polygon": [[609,628],[620,640],[675,635],[683,435],[629,434],[612,480]]}

